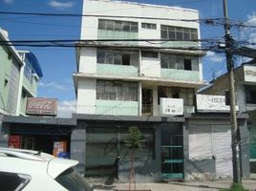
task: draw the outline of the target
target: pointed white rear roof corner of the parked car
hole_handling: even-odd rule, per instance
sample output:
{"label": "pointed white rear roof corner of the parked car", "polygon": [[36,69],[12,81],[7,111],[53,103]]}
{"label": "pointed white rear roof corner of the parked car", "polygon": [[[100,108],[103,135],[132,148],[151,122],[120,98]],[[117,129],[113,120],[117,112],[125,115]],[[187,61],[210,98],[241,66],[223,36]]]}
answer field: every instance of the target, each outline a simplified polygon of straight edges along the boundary
{"label": "pointed white rear roof corner of the parked car", "polygon": [[47,173],[55,179],[65,170],[75,166],[78,163],[77,160],[74,159],[58,159],[53,158],[48,162]]}

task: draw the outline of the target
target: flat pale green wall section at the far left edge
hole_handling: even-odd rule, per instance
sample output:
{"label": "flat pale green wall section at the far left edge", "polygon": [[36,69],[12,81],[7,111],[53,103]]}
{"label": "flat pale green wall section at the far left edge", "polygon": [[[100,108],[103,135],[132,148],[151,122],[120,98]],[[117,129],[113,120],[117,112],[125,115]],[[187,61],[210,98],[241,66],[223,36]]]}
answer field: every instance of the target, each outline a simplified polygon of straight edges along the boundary
{"label": "flat pale green wall section at the far left edge", "polygon": [[5,86],[5,79],[8,81],[11,72],[11,59],[8,58],[9,51],[3,46],[0,47],[0,109],[7,109],[9,84]]}

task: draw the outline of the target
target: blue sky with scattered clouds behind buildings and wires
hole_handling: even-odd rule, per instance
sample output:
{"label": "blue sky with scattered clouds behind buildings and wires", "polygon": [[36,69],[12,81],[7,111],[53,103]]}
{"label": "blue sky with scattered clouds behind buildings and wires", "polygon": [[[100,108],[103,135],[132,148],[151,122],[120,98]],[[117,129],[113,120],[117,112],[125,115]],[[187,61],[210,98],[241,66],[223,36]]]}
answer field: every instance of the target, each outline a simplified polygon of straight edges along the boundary
{"label": "blue sky with scattered clouds behind buildings and wires", "polygon": [[[223,17],[223,0],[130,0],[198,10],[200,18]],[[0,11],[82,13],[82,0],[0,0]],[[227,0],[230,19],[256,26],[256,0]],[[107,9],[107,8],[106,8]],[[10,40],[79,39],[81,18],[0,14],[0,28],[9,32]],[[255,28],[231,30],[235,39],[256,43]],[[202,38],[222,38],[222,26],[201,25]],[[73,74],[76,72],[75,48],[32,48],[44,76],[39,82],[38,97],[58,98],[58,117],[71,117],[75,111]],[[245,58],[236,57],[236,66]],[[226,71],[223,53],[207,52],[203,57],[203,80],[210,81]]]}

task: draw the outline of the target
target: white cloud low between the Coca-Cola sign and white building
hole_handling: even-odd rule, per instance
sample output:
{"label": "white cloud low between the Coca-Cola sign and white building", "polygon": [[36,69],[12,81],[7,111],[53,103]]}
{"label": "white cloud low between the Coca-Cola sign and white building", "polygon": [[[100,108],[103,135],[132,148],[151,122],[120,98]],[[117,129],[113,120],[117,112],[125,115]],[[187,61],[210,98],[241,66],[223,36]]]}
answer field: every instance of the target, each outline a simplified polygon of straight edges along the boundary
{"label": "white cloud low between the Coca-Cola sign and white building", "polygon": [[76,111],[76,100],[64,100],[58,103],[57,117],[70,118]]}

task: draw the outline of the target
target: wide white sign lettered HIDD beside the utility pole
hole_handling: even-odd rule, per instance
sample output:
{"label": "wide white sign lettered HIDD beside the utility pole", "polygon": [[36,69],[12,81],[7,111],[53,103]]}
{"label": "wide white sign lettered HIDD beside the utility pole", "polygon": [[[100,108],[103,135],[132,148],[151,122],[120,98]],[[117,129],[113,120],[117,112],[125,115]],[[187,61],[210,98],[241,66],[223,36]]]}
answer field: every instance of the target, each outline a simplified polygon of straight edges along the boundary
{"label": "wide white sign lettered HIDD beside the utility pole", "polygon": [[[236,106],[238,110],[238,106]],[[225,96],[197,95],[198,112],[229,112],[229,105],[225,105]]]}

